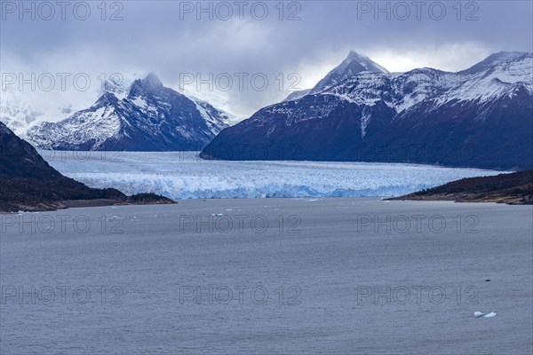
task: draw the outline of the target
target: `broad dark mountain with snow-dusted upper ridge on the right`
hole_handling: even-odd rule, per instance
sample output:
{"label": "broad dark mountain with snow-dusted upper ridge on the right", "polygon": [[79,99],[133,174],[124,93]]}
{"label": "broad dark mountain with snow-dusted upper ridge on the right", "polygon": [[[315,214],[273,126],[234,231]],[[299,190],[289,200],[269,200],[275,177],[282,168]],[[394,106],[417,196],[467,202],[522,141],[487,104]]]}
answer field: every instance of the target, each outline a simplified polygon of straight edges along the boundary
{"label": "broad dark mountain with snow-dusted upper ridge on the right", "polygon": [[458,73],[361,72],[262,108],[201,156],[533,168],[532,59],[497,53]]}

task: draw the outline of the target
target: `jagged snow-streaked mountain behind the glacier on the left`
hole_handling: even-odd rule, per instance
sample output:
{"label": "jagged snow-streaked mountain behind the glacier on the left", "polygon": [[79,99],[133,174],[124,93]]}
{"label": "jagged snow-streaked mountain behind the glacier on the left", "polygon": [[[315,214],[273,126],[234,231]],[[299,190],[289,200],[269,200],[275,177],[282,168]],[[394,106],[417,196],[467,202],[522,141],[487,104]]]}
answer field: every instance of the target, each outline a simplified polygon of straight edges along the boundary
{"label": "jagged snow-streaked mountain behind the glacier on the left", "polygon": [[230,114],[166,88],[149,74],[127,90],[106,83],[91,107],[36,125],[27,137],[57,150],[200,150],[231,121]]}

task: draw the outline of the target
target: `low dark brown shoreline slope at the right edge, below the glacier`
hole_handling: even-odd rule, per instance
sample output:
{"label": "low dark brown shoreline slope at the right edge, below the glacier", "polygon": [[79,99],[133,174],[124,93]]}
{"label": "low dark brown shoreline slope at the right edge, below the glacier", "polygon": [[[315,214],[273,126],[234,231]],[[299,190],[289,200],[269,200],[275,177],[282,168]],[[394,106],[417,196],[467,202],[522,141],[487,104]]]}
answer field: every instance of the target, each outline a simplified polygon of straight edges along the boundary
{"label": "low dark brown shoreline slope at the right edge, below the glacier", "polygon": [[494,177],[468,177],[391,200],[533,204],[533,170]]}

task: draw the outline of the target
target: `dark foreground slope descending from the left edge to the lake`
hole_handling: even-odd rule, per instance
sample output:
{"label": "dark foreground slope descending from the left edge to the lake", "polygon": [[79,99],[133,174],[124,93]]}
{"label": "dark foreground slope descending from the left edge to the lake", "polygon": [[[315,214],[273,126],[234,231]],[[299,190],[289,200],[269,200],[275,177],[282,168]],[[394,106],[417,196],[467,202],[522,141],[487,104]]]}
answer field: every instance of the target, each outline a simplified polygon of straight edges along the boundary
{"label": "dark foreground slope descending from the left edge to the lake", "polygon": [[64,177],[0,122],[0,212],[172,202],[155,194],[128,197],[115,189],[93,189]]}

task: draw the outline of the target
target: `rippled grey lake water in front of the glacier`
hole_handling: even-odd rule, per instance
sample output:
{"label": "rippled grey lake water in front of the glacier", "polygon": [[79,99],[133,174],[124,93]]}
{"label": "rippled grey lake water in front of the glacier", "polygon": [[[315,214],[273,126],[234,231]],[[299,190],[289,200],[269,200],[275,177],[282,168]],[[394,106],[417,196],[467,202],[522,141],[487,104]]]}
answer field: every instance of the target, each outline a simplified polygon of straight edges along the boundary
{"label": "rippled grey lake water in front of the glacier", "polygon": [[532,217],[375,199],[0,216],[0,353],[531,353]]}

